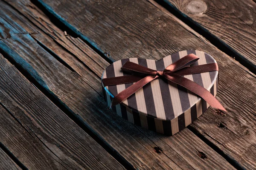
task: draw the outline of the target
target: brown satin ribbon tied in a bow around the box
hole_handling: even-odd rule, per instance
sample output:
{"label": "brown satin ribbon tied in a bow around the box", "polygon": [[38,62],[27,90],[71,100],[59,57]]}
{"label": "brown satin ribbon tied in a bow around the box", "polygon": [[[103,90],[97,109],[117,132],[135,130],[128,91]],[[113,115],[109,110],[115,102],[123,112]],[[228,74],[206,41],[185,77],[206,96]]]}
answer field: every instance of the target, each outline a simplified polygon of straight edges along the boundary
{"label": "brown satin ribbon tied in a bow around the box", "polygon": [[197,57],[194,54],[186,55],[185,57],[182,57],[176,62],[170,64],[163,71],[152,70],[150,68],[146,68],[141,65],[138,65],[134,62],[129,62],[129,61],[125,62],[125,64],[121,68],[122,71],[132,71],[137,74],[138,73],[145,74],[146,76],[143,78],[139,75],[127,75],[127,76],[121,76],[121,77],[111,77],[111,78],[102,79],[102,83],[104,86],[136,82],[130,87],[121,91],[119,94],[117,94],[113,98],[110,107],[122,103],[125,99],[127,99],[129,96],[134,94],[144,85],[148,84],[154,79],[157,79],[158,77],[162,77],[171,82],[176,83],[177,85],[181,85],[184,88],[188,89],[189,91],[192,91],[193,93],[197,94],[198,96],[203,98],[213,108],[226,111],[225,108],[221,105],[221,103],[218,102],[218,100],[209,91],[207,91],[207,89],[203,88],[201,85],[198,85],[197,83],[185,77],[182,77],[188,74],[218,71],[217,63],[190,66],[194,62],[196,62],[198,59],[199,57]]}

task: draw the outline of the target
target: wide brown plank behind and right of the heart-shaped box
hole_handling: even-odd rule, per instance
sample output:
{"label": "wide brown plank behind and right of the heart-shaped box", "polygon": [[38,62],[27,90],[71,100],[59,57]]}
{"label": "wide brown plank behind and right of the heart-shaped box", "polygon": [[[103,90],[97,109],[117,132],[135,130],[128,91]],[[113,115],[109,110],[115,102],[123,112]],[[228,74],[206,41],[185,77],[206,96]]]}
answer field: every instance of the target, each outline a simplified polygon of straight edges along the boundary
{"label": "wide brown plank behind and right of the heart-shaped box", "polygon": [[[213,121],[209,119],[207,121],[199,119],[193,125],[203,124],[204,126],[201,127],[204,128],[196,129],[198,133],[218,148],[219,153],[234,166],[255,168],[253,162],[256,162],[254,156],[256,151],[251,149],[255,148],[256,141],[254,74],[157,4],[153,6],[145,0],[111,0],[108,3],[105,1],[71,3],[66,0],[39,2],[53,16],[73,29],[83,40],[94,45],[109,59],[128,57],[160,59],[186,49],[197,49],[211,54],[217,60],[220,69],[217,98],[229,112],[224,119],[215,111],[208,110],[204,116],[215,116],[216,122],[219,123],[212,124]],[[229,133],[230,131],[220,129],[222,140],[218,139],[221,122],[229,124],[230,129],[233,130]],[[209,126],[211,128],[206,128]],[[248,133],[241,133],[243,130],[236,127],[244,127],[248,129]],[[240,144],[233,140],[237,138],[239,142],[244,143],[244,147],[240,147]],[[229,141],[228,145],[225,144],[227,141]],[[249,156],[243,154],[247,150],[251,151]]]}

